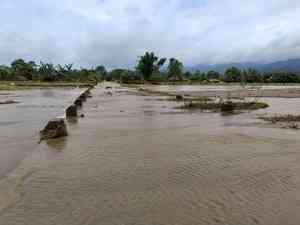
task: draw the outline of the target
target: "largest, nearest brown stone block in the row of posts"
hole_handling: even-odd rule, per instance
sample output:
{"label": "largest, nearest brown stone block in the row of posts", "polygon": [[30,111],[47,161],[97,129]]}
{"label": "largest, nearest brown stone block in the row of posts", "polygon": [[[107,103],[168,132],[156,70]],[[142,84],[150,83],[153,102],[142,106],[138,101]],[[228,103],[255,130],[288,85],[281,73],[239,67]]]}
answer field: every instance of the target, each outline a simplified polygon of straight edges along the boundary
{"label": "largest, nearest brown stone block in the row of posts", "polygon": [[50,120],[44,130],[40,132],[41,140],[68,136],[67,126],[64,119]]}

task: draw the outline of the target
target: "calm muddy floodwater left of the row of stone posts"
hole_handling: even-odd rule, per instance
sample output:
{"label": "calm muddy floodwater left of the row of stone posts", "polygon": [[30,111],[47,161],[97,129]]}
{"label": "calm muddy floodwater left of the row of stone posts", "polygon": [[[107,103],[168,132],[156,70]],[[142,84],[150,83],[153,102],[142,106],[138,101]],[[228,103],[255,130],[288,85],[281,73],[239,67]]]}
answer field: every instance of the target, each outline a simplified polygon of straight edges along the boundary
{"label": "calm muddy floodwater left of the row of stone posts", "polygon": [[49,119],[63,116],[80,89],[32,89],[0,91],[0,178],[38,146],[41,130]]}

